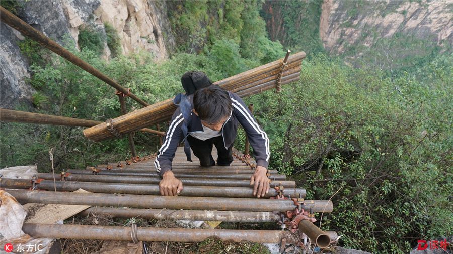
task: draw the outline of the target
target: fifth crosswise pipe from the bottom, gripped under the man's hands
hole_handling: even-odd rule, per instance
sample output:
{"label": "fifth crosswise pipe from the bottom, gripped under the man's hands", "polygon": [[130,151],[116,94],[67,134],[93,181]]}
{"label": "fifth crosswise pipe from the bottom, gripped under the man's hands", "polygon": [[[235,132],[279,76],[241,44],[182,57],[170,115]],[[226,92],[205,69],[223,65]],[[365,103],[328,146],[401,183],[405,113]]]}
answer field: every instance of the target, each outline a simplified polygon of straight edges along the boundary
{"label": "fifth crosswise pipe from the bottom, gripped under the man's hands", "polygon": [[[45,180],[60,179],[60,174],[38,173],[38,178]],[[135,177],[135,176],[102,176],[102,175],[72,175],[64,177],[66,181],[79,182],[102,182],[102,183],[133,183],[133,184],[159,184],[160,178]],[[228,179],[202,179],[202,178],[179,178],[184,186],[232,186],[250,187],[250,180],[228,180]],[[282,185],[284,188],[295,188],[294,181],[271,181],[271,187]]]}

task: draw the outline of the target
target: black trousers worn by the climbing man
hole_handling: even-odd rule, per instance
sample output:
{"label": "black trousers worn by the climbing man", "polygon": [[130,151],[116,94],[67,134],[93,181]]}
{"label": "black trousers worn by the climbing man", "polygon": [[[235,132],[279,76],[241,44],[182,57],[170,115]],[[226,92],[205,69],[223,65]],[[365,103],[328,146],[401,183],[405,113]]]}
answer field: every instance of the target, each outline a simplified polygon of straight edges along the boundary
{"label": "black trousers worn by the climbing man", "polygon": [[203,167],[215,165],[214,158],[212,158],[212,144],[217,148],[217,165],[229,166],[233,161],[233,144],[226,150],[223,145],[223,136],[199,140],[189,135],[187,136],[187,140],[189,141],[193,154],[200,159],[200,164]]}

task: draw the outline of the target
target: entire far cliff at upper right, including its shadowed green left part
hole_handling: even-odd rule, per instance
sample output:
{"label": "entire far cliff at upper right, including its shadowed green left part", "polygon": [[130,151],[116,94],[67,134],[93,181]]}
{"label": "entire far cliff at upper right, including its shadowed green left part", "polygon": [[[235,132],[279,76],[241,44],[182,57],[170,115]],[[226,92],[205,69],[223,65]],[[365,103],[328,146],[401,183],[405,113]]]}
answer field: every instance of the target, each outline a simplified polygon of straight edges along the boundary
{"label": "entire far cliff at upper right, including its shadowed green left part", "polygon": [[262,13],[273,40],[356,66],[410,67],[453,44],[453,0],[266,0]]}

